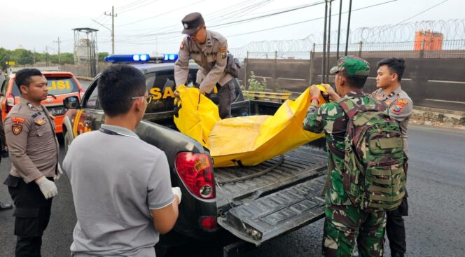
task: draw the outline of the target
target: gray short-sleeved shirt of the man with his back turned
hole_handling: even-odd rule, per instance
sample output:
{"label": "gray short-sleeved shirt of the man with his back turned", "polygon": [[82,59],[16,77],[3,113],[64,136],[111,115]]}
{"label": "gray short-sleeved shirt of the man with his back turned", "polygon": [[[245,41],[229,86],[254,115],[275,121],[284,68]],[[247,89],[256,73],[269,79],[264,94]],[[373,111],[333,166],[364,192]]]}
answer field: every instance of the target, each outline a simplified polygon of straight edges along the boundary
{"label": "gray short-sleeved shirt of the man with his back turned", "polygon": [[149,209],[174,196],[165,153],[123,127],[76,137],[63,169],[71,181],[78,222],[73,256],[155,256],[159,232]]}

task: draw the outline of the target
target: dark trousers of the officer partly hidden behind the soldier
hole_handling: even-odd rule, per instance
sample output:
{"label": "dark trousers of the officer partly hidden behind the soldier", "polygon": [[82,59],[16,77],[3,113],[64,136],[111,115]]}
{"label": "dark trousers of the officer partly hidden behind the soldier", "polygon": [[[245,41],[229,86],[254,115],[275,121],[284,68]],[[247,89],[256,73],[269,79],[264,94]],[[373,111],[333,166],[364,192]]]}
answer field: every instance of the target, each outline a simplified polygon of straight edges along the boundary
{"label": "dark trousers of the officer partly hidden behind the soldier", "polygon": [[407,197],[403,197],[402,203],[397,209],[394,211],[386,211],[386,233],[389,239],[391,256],[403,256],[407,250],[407,244],[405,243],[405,225],[402,216],[408,216]]}

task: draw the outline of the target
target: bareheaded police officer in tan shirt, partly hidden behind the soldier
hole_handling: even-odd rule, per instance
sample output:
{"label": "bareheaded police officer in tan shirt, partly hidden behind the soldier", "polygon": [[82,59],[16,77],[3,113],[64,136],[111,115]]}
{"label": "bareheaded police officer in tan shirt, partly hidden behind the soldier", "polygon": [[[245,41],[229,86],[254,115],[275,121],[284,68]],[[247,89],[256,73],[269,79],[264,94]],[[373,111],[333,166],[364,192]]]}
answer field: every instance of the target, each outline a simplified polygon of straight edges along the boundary
{"label": "bareheaded police officer in tan shirt, partly hidden behind the soldier", "polygon": [[[389,116],[401,127],[405,154],[408,153],[407,127],[412,115],[412,99],[401,88],[401,79],[405,70],[405,60],[386,58],[377,63],[376,87],[371,94],[389,106]],[[402,257],[406,251],[405,225],[402,216],[408,216],[407,194],[401,205],[394,211],[387,211],[387,238],[391,256]]]}

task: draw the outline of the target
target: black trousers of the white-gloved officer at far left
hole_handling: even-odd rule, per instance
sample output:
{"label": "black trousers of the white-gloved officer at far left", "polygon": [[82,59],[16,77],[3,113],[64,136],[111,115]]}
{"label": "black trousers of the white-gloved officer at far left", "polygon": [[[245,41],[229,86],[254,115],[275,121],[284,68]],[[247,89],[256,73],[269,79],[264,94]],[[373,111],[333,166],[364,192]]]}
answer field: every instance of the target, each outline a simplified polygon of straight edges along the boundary
{"label": "black trousers of the white-gloved officer at far left", "polygon": [[8,175],[4,184],[15,204],[15,256],[41,256],[42,235],[50,220],[52,199],[46,200],[34,181],[25,183]]}

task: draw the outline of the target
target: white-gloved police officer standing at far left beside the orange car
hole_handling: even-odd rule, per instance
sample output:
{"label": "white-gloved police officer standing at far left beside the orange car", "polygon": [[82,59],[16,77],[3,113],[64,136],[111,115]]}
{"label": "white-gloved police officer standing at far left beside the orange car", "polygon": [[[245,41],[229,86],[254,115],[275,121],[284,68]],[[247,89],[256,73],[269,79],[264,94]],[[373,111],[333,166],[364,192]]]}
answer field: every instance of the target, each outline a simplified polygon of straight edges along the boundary
{"label": "white-gloved police officer standing at far left beside the orange car", "polygon": [[11,171],[4,184],[15,204],[16,256],[41,256],[42,234],[50,220],[53,182],[61,173],[55,123],[41,101],[47,98],[47,80],[38,69],[16,74],[20,102],[5,119]]}

